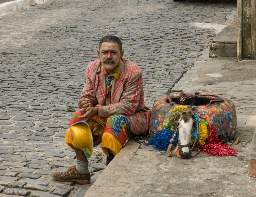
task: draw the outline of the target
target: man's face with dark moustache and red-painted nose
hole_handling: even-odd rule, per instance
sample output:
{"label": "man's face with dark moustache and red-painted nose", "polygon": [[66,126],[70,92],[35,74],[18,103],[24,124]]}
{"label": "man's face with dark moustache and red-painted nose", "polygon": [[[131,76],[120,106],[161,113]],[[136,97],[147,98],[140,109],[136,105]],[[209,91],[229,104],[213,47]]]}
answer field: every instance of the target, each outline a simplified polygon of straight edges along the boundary
{"label": "man's face with dark moustache and red-painted nose", "polygon": [[103,42],[100,50],[97,50],[102,66],[111,73],[120,62],[124,51],[120,51],[116,42]]}

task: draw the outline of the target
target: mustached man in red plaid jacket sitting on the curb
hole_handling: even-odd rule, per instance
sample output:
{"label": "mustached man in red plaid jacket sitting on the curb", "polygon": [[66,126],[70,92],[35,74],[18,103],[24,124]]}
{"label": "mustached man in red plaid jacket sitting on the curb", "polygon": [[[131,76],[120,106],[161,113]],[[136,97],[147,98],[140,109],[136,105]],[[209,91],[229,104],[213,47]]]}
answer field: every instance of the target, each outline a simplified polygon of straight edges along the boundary
{"label": "mustached man in red plaid jacket sitting on the curb", "polygon": [[[141,69],[123,57],[122,42],[116,36],[103,37],[97,52],[100,60],[87,67],[80,110],[72,115],[66,133],[66,143],[76,153],[76,166],[65,173],[54,172],[52,177],[58,181],[90,183],[87,158],[91,150],[78,148],[76,141],[91,139],[92,133],[93,146],[101,143],[108,165],[128,138],[148,131],[150,109],[144,104]],[[72,132],[84,134],[86,125],[91,131],[75,139]]]}

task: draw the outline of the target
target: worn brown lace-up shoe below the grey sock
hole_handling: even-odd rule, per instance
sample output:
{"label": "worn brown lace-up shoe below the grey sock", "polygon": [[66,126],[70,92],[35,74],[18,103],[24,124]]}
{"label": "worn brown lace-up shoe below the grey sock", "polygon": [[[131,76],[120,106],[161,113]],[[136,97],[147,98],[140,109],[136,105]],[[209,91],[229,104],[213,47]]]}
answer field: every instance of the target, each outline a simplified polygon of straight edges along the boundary
{"label": "worn brown lace-up shoe below the grey sock", "polygon": [[71,166],[66,172],[54,172],[52,178],[62,182],[77,182],[79,184],[90,184],[91,175],[90,173],[80,174],[76,170],[76,166]]}

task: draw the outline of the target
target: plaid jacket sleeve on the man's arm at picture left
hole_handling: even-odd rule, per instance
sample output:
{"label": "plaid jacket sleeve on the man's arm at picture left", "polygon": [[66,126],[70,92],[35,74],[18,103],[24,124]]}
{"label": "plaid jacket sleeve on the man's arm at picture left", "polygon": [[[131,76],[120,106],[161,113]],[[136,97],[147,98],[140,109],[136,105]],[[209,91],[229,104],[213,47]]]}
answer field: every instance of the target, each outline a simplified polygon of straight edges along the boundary
{"label": "plaid jacket sleeve on the man's arm at picture left", "polygon": [[91,67],[91,63],[89,63],[85,73],[85,82],[84,82],[83,91],[81,94],[81,99],[87,98],[90,100],[91,104],[95,106],[97,104],[97,100],[93,91],[93,82],[91,80],[92,74],[93,74],[93,68]]}

